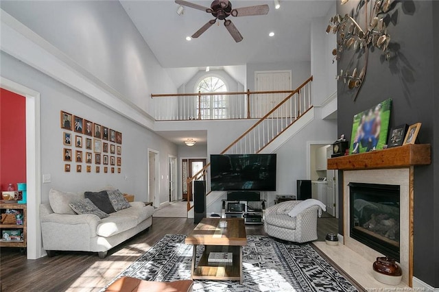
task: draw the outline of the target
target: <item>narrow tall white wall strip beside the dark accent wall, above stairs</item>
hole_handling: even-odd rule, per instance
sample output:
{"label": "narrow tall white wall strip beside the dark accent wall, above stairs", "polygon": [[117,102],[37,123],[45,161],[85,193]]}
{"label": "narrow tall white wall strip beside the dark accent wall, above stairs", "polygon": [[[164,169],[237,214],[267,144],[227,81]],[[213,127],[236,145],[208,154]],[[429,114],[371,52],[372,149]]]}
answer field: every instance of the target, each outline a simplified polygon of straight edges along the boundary
{"label": "narrow tall white wall strip beside the dark accent wall, above stairs", "polygon": [[336,35],[327,34],[329,19],[334,16],[335,2],[326,16],[311,22],[311,75],[313,75],[313,105],[321,106],[337,92],[337,61],[333,62],[332,50],[336,47]]}

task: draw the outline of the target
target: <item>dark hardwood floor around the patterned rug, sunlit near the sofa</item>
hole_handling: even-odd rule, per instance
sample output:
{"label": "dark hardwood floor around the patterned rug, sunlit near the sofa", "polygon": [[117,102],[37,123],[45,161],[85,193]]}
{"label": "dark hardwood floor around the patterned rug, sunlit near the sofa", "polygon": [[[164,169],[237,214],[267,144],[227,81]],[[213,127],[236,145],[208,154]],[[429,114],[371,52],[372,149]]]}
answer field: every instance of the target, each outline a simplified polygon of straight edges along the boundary
{"label": "dark hardwood floor around the patterned rug, sunlit near the sofa", "polygon": [[[318,219],[318,240],[337,232],[337,219]],[[0,249],[1,291],[99,291],[147,252],[165,234],[189,234],[193,219],[154,218],[149,230],[113,248],[100,259],[90,252],[58,252],[53,258],[27,260],[18,249]],[[247,234],[265,234],[262,225],[247,225]]]}

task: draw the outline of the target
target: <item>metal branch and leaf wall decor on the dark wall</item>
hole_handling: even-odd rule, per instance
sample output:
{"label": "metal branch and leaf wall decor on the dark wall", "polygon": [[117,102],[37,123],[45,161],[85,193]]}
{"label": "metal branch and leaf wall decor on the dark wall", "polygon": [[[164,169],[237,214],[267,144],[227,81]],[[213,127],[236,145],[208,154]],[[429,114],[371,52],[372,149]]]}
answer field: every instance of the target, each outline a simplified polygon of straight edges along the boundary
{"label": "metal branch and leaf wall decor on the dark wall", "polygon": [[[342,5],[349,0],[342,0]],[[341,16],[336,14],[331,17],[327,27],[327,34],[332,32],[337,35],[337,48],[333,49],[332,53],[335,60],[340,60],[345,51],[353,50],[354,53],[359,53],[360,56],[364,54],[364,65],[362,68],[355,66],[353,70],[340,70],[337,75],[337,80],[343,80],[349,89],[356,89],[354,100],[357,98],[359,88],[363,84],[364,77],[368,65],[368,51],[370,47],[376,47],[383,51],[385,60],[390,59],[390,51],[388,45],[390,43],[390,35],[387,32],[386,16],[391,10],[391,0],[377,0],[375,4],[370,6],[372,8],[370,17],[368,17],[368,2],[372,0],[361,0],[359,5],[364,5],[364,14],[366,20],[366,27],[363,29],[353,19],[352,16],[345,14]]]}

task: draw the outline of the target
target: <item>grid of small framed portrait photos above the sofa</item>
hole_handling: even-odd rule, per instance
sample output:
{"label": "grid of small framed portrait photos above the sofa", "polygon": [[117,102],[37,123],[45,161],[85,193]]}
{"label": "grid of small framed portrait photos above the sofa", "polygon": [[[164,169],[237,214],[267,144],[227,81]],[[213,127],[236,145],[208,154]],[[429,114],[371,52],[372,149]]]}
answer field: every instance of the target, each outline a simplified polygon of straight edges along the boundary
{"label": "grid of small framed portrait photos above the sofa", "polygon": [[94,166],[95,173],[121,173],[121,132],[63,110],[60,125],[64,172],[91,173]]}

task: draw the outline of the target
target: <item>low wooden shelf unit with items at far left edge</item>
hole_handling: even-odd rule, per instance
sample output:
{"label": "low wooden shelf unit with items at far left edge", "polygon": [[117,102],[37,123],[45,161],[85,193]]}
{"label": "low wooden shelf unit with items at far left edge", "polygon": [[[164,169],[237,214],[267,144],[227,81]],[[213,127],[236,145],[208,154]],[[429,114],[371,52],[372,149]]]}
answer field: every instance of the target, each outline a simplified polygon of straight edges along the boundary
{"label": "low wooden shelf unit with items at far left edge", "polygon": [[[14,210],[14,212],[12,211]],[[27,209],[26,204],[0,202],[1,222],[0,247],[26,247]],[[18,216],[17,216],[18,215]],[[11,239],[12,238],[12,239]],[[19,238],[19,240],[14,240]],[[8,240],[9,239],[9,240]]]}

